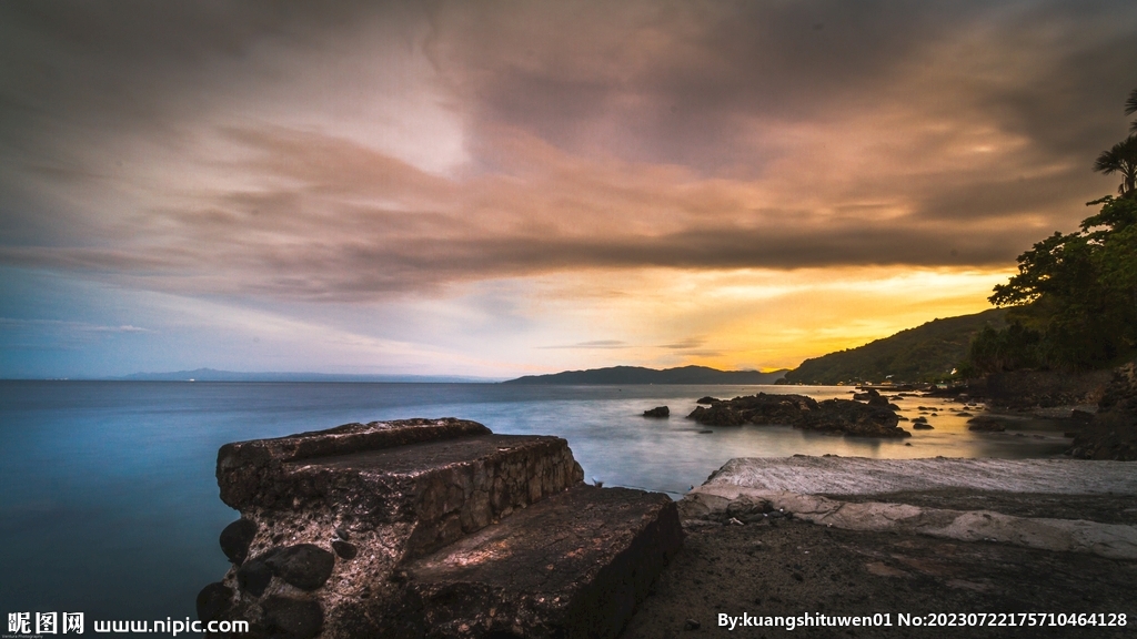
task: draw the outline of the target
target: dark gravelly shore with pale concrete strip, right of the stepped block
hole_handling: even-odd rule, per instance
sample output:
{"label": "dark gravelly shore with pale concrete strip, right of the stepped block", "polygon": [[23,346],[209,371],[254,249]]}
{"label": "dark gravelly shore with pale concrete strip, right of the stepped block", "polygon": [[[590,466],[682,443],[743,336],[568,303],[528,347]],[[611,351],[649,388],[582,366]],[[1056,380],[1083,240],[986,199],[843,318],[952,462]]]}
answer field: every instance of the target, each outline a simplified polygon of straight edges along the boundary
{"label": "dark gravelly shore with pale concrete strip, right of the stepped block", "polygon": [[[684,549],[623,637],[1130,637],[1137,625],[1135,496],[1134,463],[733,459],[681,504]],[[982,533],[968,534],[970,524],[955,537],[933,530],[960,517]],[[993,521],[1002,528],[991,529]],[[1080,543],[1071,531],[1081,531]],[[814,620],[879,613],[893,625],[792,632],[719,625],[744,615],[805,613]],[[927,623],[935,613],[1094,613],[1106,623],[1126,614],[1127,623],[898,623],[901,614]]]}

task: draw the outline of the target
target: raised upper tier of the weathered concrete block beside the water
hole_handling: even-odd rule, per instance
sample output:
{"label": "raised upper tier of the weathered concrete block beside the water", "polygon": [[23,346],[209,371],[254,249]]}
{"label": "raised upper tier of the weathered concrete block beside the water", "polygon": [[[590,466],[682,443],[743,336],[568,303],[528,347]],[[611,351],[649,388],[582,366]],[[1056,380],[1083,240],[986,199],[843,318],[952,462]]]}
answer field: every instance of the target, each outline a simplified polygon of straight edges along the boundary
{"label": "raised upper tier of the weathered concrete block beside the water", "polygon": [[583,472],[561,438],[424,420],[226,445],[217,478],[222,500],[242,512],[291,517],[333,507],[340,528],[407,523],[405,554],[415,556],[559,492]]}

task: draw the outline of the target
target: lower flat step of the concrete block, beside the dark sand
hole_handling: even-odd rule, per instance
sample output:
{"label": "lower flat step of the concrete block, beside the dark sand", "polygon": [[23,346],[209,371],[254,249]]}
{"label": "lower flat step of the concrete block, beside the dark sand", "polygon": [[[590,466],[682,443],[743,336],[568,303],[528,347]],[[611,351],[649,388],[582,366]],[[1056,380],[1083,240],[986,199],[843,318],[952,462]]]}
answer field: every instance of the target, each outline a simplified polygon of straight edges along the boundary
{"label": "lower flat step of the concrete block, beside the dark sand", "polygon": [[383,636],[616,637],[681,543],[665,495],[580,484],[405,564]]}

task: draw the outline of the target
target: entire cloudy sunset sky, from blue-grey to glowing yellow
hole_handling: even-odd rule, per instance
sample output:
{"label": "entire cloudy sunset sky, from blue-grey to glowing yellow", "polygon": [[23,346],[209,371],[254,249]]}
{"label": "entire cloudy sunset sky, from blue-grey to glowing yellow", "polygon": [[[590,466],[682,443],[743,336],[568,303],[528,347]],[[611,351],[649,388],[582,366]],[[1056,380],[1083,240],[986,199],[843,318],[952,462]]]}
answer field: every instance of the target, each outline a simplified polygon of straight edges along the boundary
{"label": "entire cloudy sunset sky, from blue-grey to glowing yellow", "polygon": [[1117,180],[1129,0],[0,3],[0,377],[794,367]]}

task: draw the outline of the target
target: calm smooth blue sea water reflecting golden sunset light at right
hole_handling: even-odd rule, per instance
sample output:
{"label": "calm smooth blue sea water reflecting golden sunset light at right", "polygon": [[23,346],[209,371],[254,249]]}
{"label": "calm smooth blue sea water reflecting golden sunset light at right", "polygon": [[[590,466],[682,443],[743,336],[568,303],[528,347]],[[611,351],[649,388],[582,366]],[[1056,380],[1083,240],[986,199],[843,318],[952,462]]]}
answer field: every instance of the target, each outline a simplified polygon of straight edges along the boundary
{"label": "calm smooth blue sea water reflecting golden sunset light at right", "polygon": [[[846,397],[807,387],[513,387],[500,384],[0,382],[0,616],[193,616],[198,590],[227,563],[217,546],[236,513],[221,503],[217,448],[347,422],[463,417],[498,433],[568,440],[586,478],[679,497],[731,457],[1048,457],[1054,424],[978,434],[940,412],[905,441],[779,426],[712,429],[695,400],[766,392]],[[898,404],[913,417],[932,399]],[[670,420],[645,420],[667,405]],[[902,423],[904,425],[904,423]],[[1018,435],[1018,437],[1016,437]]]}

